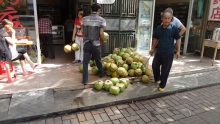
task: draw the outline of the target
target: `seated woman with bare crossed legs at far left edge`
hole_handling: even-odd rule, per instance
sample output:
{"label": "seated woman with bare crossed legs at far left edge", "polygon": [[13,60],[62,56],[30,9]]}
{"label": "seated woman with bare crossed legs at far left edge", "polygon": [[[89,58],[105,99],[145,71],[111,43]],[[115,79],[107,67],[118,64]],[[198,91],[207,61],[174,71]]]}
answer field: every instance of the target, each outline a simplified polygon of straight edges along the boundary
{"label": "seated woman with bare crossed legs at far left edge", "polygon": [[16,49],[16,44],[15,44],[15,30],[13,29],[13,23],[7,19],[4,19],[2,21],[2,26],[4,26],[5,31],[7,32],[7,34],[9,36],[6,36],[5,39],[6,41],[9,43],[9,49],[11,51],[12,54],[12,61],[15,60],[20,60],[20,65],[23,71],[23,75],[29,75],[32,74],[33,72],[27,71],[25,69],[25,61],[27,60],[27,62],[30,64],[31,68],[34,70],[38,64],[35,64],[31,61],[29,55],[27,54],[27,51],[24,48],[18,48]]}

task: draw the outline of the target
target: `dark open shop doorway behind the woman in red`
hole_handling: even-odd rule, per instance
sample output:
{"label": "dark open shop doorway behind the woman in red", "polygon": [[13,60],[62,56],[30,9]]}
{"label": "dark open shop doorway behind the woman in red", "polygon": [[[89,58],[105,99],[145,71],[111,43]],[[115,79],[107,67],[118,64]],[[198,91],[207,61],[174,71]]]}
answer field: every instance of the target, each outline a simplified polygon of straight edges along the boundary
{"label": "dark open shop doorway behind the woman in red", "polygon": [[[53,44],[55,46],[55,60],[46,58],[44,62],[58,61],[60,63],[71,63],[74,60],[74,52],[65,53],[64,45],[72,43],[72,36],[67,36],[66,20],[70,17],[74,20],[77,9],[84,9],[86,15],[90,13],[91,0],[37,0],[37,14],[40,18],[44,14],[53,17]],[[72,27],[73,30],[73,27]]]}

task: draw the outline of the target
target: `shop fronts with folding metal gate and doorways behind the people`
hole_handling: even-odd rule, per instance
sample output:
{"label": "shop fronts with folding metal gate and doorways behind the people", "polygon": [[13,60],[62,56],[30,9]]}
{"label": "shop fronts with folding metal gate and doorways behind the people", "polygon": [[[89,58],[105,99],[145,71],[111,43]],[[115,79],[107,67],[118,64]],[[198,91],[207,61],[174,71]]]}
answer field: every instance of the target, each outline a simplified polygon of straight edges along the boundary
{"label": "shop fronts with folding metal gate and doorways behind the people", "polygon": [[160,13],[165,7],[173,8],[174,16],[187,28],[181,43],[184,55],[200,52],[203,39],[212,37],[214,28],[220,27],[219,12],[212,16],[217,18],[217,21],[208,20],[209,12],[214,12],[210,5],[218,2],[215,0],[108,0],[108,4],[106,1],[2,0],[0,21],[8,18],[13,21],[19,37],[29,37],[34,41],[33,48],[37,51],[38,62],[41,62],[38,18],[48,12],[53,16],[54,43],[63,45],[64,22],[68,14],[75,17],[79,6],[89,14],[92,2],[101,3],[101,16],[107,21],[106,32],[110,35],[109,41],[102,46],[103,56],[112,53],[115,47],[135,47],[139,53],[147,55],[152,44],[153,31],[161,24]]}

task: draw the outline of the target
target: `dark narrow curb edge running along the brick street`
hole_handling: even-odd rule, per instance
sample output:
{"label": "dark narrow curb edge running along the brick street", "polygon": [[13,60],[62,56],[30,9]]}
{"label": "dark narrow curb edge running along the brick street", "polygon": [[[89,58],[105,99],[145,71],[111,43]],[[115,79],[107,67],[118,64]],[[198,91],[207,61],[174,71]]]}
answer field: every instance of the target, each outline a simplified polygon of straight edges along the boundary
{"label": "dark narrow curb edge running along the brick street", "polygon": [[114,102],[97,104],[97,105],[86,106],[86,107],[79,107],[79,108],[69,109],[69,110],[62,110],[62,111],[52,112],[52,113],[48,113],[48,114],[3,120],[3,121],[0,121],[0,123],[1,124],[11,124],[11,123],[19,123],[19,122],[21,123],[21,122],[33,121],[33,120],[37,120],[37,119],[45,119],[45,118],[49,118],[49,117],[62,116],[62,115],[66,115],[66,114],[70,114],[70,113],[74,113],[74,112],[79,112],[79,111],[83,112],[83,111],[89,111],[89,110],[93,110],[93,109],[104,108],[104,107],[108,107],[108,106],[112,106],[112,105],[133,103],[133,102],[141,101],[141,100],[150,100],[150,99],[160,98],[160,97],[164,97],[164,96],[171,95],[171,94],[176,94],[176,93],[181,93],[181,92],[185,92],[185,91],[191,91],[191,90],[196,90],[196,89],[211,87],[211,86],[216,86],[216,85],[220,85],[220,82],[212,83],[212,84],[205,84],[202,86],[196,86],[196,87],[191,87],[191,88],[178,89],[178,90],[174,90],[174,91],[167,91],[167,92],[157,93],[157,94],[153,94],[153,95],[140,96],[140,97],[126,99],[126,100],[114,101]]}

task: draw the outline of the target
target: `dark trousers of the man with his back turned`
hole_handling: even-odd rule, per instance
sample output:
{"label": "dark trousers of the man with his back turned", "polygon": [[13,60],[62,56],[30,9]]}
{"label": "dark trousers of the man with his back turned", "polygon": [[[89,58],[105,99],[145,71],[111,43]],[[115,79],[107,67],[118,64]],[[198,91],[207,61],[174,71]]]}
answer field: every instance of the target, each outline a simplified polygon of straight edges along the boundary
{"label": "dark trousers of the man with his back turned", "polygon": [[83,46],[83,83],[88,83],[88,64],[91,56],[95,59],[96,65],[99,69],[99,76],[104,75],[101,61],[101,46],[94,46],[92,42],[86,42]]}

